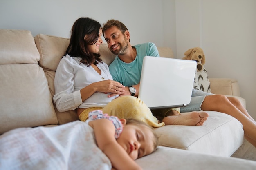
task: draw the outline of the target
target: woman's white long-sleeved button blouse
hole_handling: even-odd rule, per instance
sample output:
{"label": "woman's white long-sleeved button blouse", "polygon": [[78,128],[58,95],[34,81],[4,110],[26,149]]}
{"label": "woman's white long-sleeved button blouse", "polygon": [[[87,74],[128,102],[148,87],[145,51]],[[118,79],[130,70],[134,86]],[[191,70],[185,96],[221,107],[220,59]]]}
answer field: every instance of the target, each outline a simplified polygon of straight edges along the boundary
{"label": "woman's white long-sleeved button blouse", "polygon": [[108,97],[110,93],[95,92],[85,101],[82,101],[80,90],[89,84],[103,80],[112,80],[108,65],[106,63],[97,64],[101,70],[101,75],[92,68],[81,63],[80,57],[64,56],[55,73],[53,100],[58,111],[64,112],[76,108],[104,107],[115,97]]}

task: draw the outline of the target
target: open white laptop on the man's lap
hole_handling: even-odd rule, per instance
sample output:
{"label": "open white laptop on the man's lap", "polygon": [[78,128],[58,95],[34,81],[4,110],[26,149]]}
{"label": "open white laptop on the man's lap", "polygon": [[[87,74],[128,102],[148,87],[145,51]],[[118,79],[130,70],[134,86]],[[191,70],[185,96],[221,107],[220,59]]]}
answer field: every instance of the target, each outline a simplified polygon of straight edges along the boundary
{"label": "open white laptop on the man's lap", "polygon": [[150,108],[184,107],[190,103],[196,62],[144,57],[138,97]]}

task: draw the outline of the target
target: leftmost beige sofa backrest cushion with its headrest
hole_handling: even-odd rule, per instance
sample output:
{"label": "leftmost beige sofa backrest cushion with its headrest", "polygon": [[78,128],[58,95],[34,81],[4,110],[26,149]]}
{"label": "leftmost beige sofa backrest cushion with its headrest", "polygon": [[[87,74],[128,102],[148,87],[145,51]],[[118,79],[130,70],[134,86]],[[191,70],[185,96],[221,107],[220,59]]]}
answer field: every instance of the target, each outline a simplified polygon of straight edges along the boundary
{"label": "leftmost beige sofa backrest cushion with its headrest", "polygon": [[39,60],[30,31],[0,29],[0,134],[58,123]]}

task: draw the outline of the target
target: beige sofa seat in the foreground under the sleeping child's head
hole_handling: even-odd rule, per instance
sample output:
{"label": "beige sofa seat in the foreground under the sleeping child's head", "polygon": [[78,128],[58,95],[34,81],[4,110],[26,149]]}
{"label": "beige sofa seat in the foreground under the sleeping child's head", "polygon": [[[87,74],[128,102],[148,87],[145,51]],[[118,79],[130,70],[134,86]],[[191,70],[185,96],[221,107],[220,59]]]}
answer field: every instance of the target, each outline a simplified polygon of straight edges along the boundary
{"label": "beige sofa seat in the foreground under the sleeping child's head", "polygon": [[[204,146],[202,146],[203,148]],[[136,162],[144,170],[255,170],[256,161],[158,146]]]}

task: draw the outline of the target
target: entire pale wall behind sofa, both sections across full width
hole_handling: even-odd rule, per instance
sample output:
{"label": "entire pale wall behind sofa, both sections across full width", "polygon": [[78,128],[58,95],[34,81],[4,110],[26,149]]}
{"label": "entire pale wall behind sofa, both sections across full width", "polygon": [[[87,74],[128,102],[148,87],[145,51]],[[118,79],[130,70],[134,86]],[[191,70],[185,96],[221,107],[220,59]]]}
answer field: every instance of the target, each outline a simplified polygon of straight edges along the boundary
{"label": "entire pale wall behind sofa, both sections across full width", "polygon": [[177,58],[200,46],[209,77],[238,79],[256,119],[255,9],[255,0],[0,0],[0,29],[69,37],[79,17],[114,18],[126,24],[132,44],[168,46]]}

